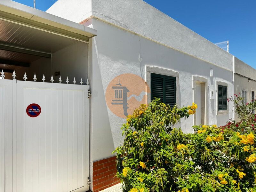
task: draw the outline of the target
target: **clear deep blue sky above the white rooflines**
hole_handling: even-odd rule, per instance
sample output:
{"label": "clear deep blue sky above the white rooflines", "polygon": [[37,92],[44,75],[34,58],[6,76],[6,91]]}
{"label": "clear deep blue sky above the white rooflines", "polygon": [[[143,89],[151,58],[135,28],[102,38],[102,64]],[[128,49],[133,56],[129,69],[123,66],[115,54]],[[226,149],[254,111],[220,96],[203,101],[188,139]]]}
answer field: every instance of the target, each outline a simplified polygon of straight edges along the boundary
{"label": "clear deep blue sky above the white rooflines", "polygon": [[[15,0],[33,6],[33,0]],[[105,0],[104,0],[105,1]],[[36,0],[45,11],[56,0]],[[229,52],[256,68],[255,0],[145,0],[213,43],[229,40]]]}

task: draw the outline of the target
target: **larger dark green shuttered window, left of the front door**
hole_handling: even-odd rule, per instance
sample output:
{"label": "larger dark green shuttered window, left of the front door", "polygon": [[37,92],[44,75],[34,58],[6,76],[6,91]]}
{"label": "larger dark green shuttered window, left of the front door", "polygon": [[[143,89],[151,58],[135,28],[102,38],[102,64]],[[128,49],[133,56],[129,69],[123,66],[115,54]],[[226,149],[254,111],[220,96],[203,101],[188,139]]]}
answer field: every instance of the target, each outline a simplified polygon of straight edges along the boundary
{"label": "larger dark green shuttered window, left of the front door", "polygon": [[154,98],[173,107],[176,103],[176,77],[151,73],[151,100]]}

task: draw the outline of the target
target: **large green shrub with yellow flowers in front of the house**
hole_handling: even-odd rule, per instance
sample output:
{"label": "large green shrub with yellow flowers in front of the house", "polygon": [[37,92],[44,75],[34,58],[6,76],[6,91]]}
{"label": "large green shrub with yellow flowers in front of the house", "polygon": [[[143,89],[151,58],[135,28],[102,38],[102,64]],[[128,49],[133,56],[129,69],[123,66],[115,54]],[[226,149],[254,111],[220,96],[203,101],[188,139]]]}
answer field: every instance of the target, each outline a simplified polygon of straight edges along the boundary
{"label": "large green shrub with yellow flowers in front of the house", "polygon": [[194,103],[170,108],[153,100],[127,117],[124,143],[114,151],[122,157],[124,168],[116,176],[124,192],[256,191],[252,127],[246,122],[200,125],[193,126],[194,134],[173,127],[196,108]]}

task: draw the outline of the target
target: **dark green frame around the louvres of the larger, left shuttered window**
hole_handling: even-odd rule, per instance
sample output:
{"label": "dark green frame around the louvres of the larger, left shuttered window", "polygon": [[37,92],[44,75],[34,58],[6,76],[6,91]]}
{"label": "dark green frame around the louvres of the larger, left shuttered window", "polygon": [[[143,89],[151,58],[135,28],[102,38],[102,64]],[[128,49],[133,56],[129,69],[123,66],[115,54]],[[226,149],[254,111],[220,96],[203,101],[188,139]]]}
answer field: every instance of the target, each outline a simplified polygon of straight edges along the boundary
{"label": "dark green frame around the louvres of the larger, left shuttered window", "polygon": [[[168,76],[168,75],[162,75],[162,74],[157,74],[157,73],[153,73],[151,72],[150,73],[150,100],[153,100],[155,97],[153,97],[153,89],[152,89],[152,76],[155,76],[155,77],[163,77],[163,103],[166,103],[166,87],[165,87],[165,83],[166,83],[166,79],[172,79],[174,80],[174,105],[176,105],[177,103],[177,94],[176,94],[176,89],[177,89],[177,82],[176,82],[176,77],[175,76]],[[170,104],[169,104],[170,105]],[[172,106],[171,106],[172,107]]]}

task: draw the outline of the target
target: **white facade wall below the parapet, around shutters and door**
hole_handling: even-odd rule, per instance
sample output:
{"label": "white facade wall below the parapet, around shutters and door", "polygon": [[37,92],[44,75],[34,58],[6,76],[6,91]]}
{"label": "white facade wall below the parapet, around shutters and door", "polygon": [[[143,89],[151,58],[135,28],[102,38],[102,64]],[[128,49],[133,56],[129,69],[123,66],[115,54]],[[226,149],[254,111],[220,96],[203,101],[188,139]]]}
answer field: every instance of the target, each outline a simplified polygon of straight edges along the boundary
{"label": "white facade wall below the parapet, around shutters and door", "polygon": [[[132,73],[146,80],[146,66],[179,72],[180,88],[177,91],[181,96],[178,98],[180,106],[191,105],[193,102],[192,76],[207,78],[209,90],[214,90],[215,93],[214,100],[208,100],[209,123],[223,125],[232,118],[229,114],[216,116],[216,82],[227,83],[228,93],[231,95],[231,70],[212,65],[100,20],[93,20],[92,27],[98,30],[98,36],[92,39],[92,65],[89,64],[92,91],[92,161],[111,156],[111,152],[123,141],[120,127],[125,119],[113,114],[106,104],[105,92],[108,84],[114,77],[124,73]],[[142,57],[141,62],[138,59],[139,54]],[[213,77],[210,77],[210,68],[213,69]],[[229,106],[229,111],[231,110],[232,106]],[[184,132],[192,132],[192,125],[192,117],[181,120]]]}

